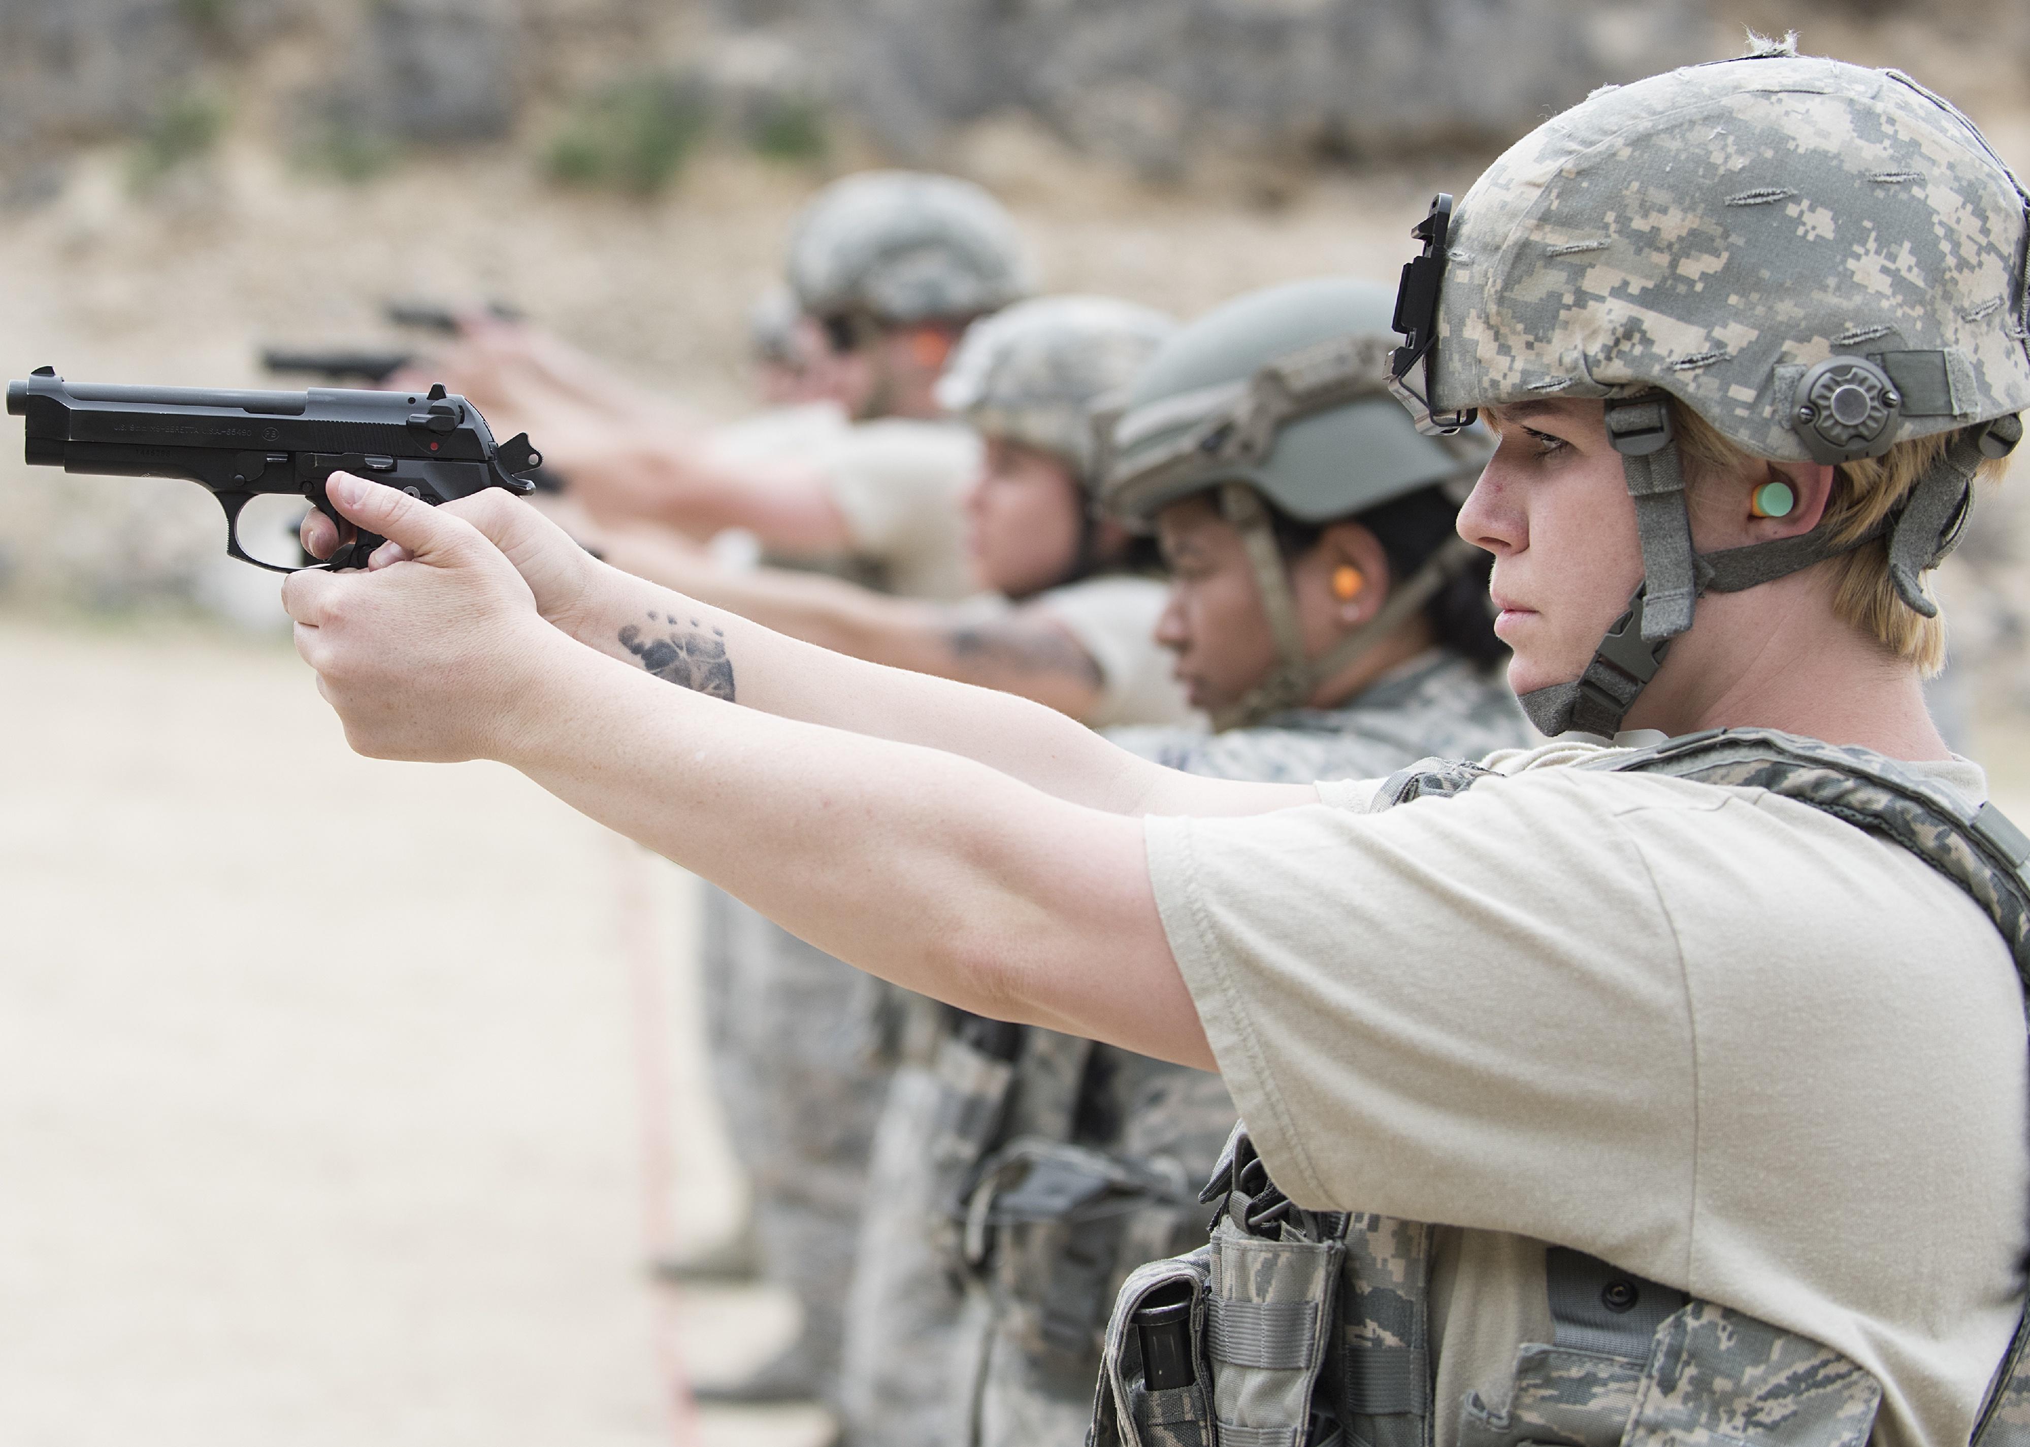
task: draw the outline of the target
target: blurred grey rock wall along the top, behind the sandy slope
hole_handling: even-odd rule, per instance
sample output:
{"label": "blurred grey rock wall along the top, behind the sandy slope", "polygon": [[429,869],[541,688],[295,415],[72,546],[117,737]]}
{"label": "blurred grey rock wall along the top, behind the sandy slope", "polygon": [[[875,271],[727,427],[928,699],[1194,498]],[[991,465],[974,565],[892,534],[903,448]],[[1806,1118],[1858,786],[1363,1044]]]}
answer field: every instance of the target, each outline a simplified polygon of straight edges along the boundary
{"label": "blurred grey rock wall along the top, behind the sandy slope", "polygon": [[[753,41],[796,57],[879,148],[924,160],[958,124],[1029,114],[1175,177],[1200,152],[1346,158],[1512,136],[1594,85],[1711,49],[1707,0],[0,0],[0,152],[144,128],[193,77],[313,28],[307,114],[396,140],[514,132],[574,71],[694,59],[751,87]],[[568,65],[583,57],[587,65]],[[733,57],[725,61],[725,57]],[[784,69],[784,67],[777,67]],[[229,81],[227,81],[229,85]],[[0,168],[8,168],[0,160]]]}

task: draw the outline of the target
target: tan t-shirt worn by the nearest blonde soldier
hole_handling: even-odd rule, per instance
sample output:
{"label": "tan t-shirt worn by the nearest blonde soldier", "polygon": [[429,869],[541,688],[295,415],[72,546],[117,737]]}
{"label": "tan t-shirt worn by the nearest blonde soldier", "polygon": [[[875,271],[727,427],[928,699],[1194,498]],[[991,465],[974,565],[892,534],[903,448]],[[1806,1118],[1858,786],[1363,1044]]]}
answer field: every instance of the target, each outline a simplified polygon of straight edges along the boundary
{"label": "tan t-shirt worn by the nearest blonde soldier", "polygon": [[[1551,1341],[1543,1242],[1823,1341],[1876,1441],[1963,1447],[2020,1305],[2024,1007],[1914,854],[1762,789],[1374,783],[1153,818],[1163,929],[1275,1181],[1439,1222],[1437,1441]],[[1971,798],[1965,761],[1918,765]]]}

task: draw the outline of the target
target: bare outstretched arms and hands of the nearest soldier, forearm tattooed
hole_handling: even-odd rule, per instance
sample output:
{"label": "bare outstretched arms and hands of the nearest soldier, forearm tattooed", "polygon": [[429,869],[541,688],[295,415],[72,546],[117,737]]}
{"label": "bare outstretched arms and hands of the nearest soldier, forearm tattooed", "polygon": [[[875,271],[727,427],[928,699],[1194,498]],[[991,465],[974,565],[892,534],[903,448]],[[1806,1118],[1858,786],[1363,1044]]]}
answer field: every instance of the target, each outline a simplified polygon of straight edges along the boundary
{"label": "bare outstretched arms and hands of the nearest soldier, forearm tattooed", "polygon": [[[1210,1065],[1125,800],[1054,798],[976,759],[731,700],[784,704],[798,688],[777,674],[804,672],[814,696],[857,692],[840,710],[861,722],[887,692],[918,733],[999,735],[1015,718],[1005,710],[1021,710],[1050,741],[983,751],[1031,749],[1045,773],[1054,751],[1094,751],[1088,771],[1090,759],[1127,755],[1035,704],[840,660],[664,593],[566,599],[554,617],[593,637],[627,617],[595,651],[538,615],[538,599],[556,607],[568,587],[554,576],[562,560],[538,546],[542,532],[532,544],[503,530],[510,556],[520,554],[510,562],[451,507],[376,487],[349,499],[345,481],[331,491],[353,522],[412,554],[371,574],[300,572],[284,587],[298,651],[361,753],[507,761],[883,978]],[[650,599],[656,607],[641,607]]]}

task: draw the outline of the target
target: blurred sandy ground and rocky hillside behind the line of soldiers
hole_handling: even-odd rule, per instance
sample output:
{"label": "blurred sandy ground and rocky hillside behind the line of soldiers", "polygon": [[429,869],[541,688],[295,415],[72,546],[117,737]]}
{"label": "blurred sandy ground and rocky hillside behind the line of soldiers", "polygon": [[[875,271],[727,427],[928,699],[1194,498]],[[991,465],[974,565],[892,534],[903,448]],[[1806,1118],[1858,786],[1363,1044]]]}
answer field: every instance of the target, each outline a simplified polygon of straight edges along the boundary
{"label": "blurred sandy ground and rocky hillside behind the line of soldiers", "polygon": [[[1744,28],[2030,164],[2020,0],[0,0],[0,369],[272,382],[505,302],[751,406],[788,221],[869,164],[1177,315],[1391,280],[1435,189]],[[816,1441],[678,1382],[792,1327],[639,1262],[739,1212],[688,881],[489,765],[355,759],[189,483],[0,428],[0,1443]],[[538,444],[542,438],[536,438]],[[2024,507],[1941,576],[1941,712],[2030,779]]]}

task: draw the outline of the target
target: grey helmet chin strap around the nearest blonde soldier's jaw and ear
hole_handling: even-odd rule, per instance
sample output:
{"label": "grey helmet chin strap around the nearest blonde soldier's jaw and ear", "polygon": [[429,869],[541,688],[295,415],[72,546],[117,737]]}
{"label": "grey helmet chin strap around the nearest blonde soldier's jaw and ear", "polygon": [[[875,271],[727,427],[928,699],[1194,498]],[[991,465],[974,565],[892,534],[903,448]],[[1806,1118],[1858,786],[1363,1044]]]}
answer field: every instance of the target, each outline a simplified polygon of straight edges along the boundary
{"label": "grey helmet chin strap around the nearest blonde soldier's jaw and ear", "polygon": [[1902,507],[1849,542],[1833,542],[1823,528],[1752,542],[1746,548],[1697,554],[1685,509],[1685,471],[1663,394],[1608,402],[1608,436],[1622,455],[1628,495],[1636,501],[1636,536],[1642,542],[1642,582],[1600,639],[1585,672],[1569,684],[1533,688],[1520,696],[1522,712],[1539,733],[1592,733],[1612,739],[1636,698],[1663,668],[1671,639],[1691,627],[1693,601],[1703,593],[1742,593],[1801,572],[1827,558],[1888,534],[1890,578],[1898,597],[1924,617],[1939,605],[1924,597],[1920,574],[1945,562],[1973,509],[1973,471],[1987,457],[2006,457],[2022,438],[2022,422],[1995,418],[1965,428],[1933,463]]}

